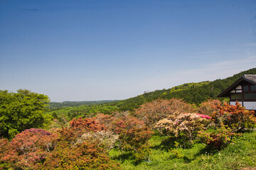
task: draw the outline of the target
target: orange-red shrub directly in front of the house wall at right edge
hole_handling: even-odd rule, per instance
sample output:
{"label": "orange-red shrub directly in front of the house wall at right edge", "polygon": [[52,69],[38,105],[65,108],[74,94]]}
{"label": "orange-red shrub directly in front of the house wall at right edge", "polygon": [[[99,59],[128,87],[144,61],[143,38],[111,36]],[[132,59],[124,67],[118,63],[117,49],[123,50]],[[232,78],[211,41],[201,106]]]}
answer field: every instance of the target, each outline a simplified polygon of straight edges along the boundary
{"label": "orange-red shrub directly in front of the house wall at right edge", "polygon": [[213,121],[218,126],[222,123],[228,125],[233,132],[236,132],[255,127],[256,118],[254,113],[254,111],[246,110],[238,102],[235,103],[235,106],[225,103],[224,106],[218,106],[218,111],[213,113]]}

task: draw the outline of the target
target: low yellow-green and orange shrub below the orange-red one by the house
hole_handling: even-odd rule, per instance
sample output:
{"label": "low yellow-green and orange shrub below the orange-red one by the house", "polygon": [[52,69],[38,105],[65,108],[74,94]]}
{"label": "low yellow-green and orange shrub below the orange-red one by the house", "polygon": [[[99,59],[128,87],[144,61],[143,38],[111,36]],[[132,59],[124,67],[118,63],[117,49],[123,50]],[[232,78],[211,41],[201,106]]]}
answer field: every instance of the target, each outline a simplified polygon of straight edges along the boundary
{"label": "low yellow-green and orange shrub below the orange-red one by the house", "polygon": [[206,132],[203,130],[198,132],[198,137],[201,141],[212,149],[222,149],[233,140],[233,137],[241,135],[241,133],[232,132],[230,128],[225,128],[224,125],[215,132]]}

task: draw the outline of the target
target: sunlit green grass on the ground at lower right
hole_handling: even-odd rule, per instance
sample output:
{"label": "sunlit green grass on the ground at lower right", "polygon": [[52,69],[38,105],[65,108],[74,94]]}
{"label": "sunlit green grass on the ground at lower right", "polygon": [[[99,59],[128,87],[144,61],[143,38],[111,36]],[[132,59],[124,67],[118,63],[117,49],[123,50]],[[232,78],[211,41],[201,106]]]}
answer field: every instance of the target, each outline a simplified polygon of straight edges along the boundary
{"label": "sunlit green grass on the ground at lower right", "polygon": [[[165,140],[166,142],[161,142]],[[256,167],[256,132],[245,132],[228,147],[209,150],[200,142],[183,149],[168,145],[166,137],[154,135],[151,140],[150,162],[134,162],[132,154],[110,150],[110,157],[122,169],[241,169]],[[172,150],[172,151],[171,151]]]}

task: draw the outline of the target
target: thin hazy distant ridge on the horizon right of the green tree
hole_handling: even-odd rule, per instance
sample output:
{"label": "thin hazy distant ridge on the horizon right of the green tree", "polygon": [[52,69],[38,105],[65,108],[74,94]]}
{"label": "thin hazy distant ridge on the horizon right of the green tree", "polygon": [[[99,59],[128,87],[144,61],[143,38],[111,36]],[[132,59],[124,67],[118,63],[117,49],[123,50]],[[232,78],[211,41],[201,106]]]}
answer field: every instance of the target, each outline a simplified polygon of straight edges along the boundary
{"label": "thin hazy distant ridge on the horizon right of the green tree", "polygon": [[110,103],[118,100],[105,100],[105,101],[63,101],[63,102],[50,102],[49,108],[63,108],[63,107],[76,107],[76,106],[90,106],[95,104]]}

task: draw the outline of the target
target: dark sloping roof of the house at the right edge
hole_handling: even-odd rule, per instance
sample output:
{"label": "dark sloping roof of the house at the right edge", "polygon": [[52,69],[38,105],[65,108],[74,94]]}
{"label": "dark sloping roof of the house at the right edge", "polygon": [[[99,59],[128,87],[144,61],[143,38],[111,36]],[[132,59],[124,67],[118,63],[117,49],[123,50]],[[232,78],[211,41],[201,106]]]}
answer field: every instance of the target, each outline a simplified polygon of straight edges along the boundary
{"label": "dark sloping roof of the house at the right edge", "polygon": [[256,84],[256,74],[244,74],[242,77],[240,77],[240,79],[235,81],[235,83],[231,84],[227,89],[222,91],[218,95],[218,97],[228,97],[230,91],[232,91],[234,87],[238,86],[238,84],[240,84],[241,81],[247,81],[251,84]]}

